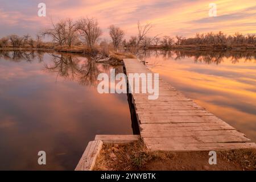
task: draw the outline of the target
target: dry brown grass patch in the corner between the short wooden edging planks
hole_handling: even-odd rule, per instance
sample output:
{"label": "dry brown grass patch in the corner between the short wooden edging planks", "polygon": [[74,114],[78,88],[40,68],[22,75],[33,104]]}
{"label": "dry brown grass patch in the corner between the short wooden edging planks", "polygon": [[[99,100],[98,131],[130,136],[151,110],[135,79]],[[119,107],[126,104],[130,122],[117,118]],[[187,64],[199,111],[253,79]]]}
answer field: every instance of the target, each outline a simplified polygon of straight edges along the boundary
{"label": "dry brown grass patch in the corner between the short wooden edging planks", "polygon": [[104,144],[94,171],[130,171],[143,168],[150,160],[168,160],[172,152],[150,152],[142,140],[125,145]]}

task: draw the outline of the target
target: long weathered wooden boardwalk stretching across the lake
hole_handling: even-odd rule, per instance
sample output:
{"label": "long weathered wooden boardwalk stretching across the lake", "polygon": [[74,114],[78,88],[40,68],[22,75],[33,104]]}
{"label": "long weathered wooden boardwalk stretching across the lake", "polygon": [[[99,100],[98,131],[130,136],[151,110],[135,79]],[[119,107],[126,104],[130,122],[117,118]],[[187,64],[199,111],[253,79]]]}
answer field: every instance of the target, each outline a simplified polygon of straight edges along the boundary
{"label": "long weathered wooden boardwalk stretching across the lake", "polygon": [[[137,59],[123,59],[126,74],[152,73]],[[159,75],[159,97],[132,94],[141,137],[151,150],[209,151],[256,148],[232,126],[185,97]]]}

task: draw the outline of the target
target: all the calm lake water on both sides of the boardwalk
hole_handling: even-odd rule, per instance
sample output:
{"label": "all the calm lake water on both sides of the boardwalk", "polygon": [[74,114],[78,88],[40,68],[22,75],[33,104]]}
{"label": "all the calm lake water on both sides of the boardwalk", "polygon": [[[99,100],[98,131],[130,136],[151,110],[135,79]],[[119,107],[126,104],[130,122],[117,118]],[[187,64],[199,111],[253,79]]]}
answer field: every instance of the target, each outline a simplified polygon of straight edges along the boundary
{"label": "all the calm lake water on both sides of the boardwalk", "polygon": [[[148,68],[256,142],[255,53],[142,52]],[[98,94],[110,65],[0,52],[0,169],[73,170],[96,134],[133,134],[126,94]],[[115,67],[116,73],[122,67]],[[38,151],[47,165],[38,165]]]}

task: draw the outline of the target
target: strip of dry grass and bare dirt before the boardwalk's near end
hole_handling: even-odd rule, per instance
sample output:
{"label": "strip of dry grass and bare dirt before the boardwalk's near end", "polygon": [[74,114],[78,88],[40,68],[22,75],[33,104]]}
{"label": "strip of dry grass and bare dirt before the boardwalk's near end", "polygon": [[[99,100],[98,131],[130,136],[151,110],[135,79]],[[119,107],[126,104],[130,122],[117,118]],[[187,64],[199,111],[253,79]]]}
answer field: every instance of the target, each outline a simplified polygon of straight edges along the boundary
{"label": "strip of dry grass and bare dirt before the boardwalk's near end", "polygon": [[150,152],[142,140],[129,144],[104,144],[95,171],[130,170],[255,170],[256,150],[217,151],[217,165],[208,163],[209,151]]}

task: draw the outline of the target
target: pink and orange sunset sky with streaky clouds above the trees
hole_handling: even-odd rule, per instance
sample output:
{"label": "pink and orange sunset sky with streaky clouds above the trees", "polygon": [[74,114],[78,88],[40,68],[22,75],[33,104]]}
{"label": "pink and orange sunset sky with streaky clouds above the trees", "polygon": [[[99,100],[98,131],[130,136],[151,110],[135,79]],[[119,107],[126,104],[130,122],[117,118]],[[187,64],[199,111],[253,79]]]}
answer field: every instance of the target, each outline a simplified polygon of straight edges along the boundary
{"label": "pink and orange sunset sky with streaky clouds above the trees", "polygon": [[[38,16],[38,4],[46,3],[46,17]],[[217,16],[209,17],[209,3],[217,5]],[[126,38],[137,32],[137,22],[152,23],[150,35],[194,36],[196,32],[224,31],[256,34],[255,0],[0,0],[0,36],[30,34],[49,27],[51,19],[98,19],[108,39],[108,27],[125,30]]]}

